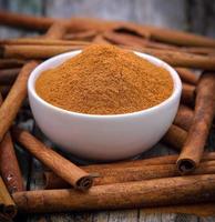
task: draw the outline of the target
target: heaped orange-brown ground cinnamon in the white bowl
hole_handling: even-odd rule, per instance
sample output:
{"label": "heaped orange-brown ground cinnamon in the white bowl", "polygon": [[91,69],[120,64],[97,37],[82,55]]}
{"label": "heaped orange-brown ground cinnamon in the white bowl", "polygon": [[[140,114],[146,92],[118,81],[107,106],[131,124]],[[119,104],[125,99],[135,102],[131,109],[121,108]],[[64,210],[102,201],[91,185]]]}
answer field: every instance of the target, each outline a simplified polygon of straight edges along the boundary
{"label": "heaped orange-brown ground cinnamon in the white bowl", "polygon": [[37,93],[64,110],[89,114],[141,111],[166,100],[173,80],[162,68],[123,49],[95,44],[41,73]]}

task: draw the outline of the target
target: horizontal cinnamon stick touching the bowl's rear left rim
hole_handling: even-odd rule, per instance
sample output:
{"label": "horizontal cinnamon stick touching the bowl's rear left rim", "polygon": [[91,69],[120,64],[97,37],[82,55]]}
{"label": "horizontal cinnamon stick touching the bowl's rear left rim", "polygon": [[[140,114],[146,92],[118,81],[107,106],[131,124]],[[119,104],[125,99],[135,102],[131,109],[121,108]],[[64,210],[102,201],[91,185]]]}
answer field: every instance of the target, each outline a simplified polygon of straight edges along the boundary
{"label": "horizontal cinnamon stick touching the bowl's rear left rim", "polygon": [[82,48],[83,46],[1,46],[0,58],[47,59]]}

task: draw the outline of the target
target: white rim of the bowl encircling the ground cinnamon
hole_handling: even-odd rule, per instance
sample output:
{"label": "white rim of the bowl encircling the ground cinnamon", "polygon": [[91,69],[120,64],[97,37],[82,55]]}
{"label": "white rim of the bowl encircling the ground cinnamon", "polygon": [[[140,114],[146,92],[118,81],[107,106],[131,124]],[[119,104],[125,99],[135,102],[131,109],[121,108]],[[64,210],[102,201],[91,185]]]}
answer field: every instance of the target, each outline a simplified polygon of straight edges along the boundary
{"label": "white rim of the bowl encircling the ground cinnamon", "polygon": [[54,56],[54,57],[43,61],[42,63],[40,63],[31,72],[31,74],[29,77],[29,80],[28,80],[28,94],[31,94],[34,100],[39,101],[39,103],[41,103],[45,108],[52,109],[52,110],[54,110],[57,112],[61,112],[61,113],[64,113],[64,114],[70,114],[70,115],[73,115],[73,117],[76,115],[76,117],[80,117],[80,118],[91,118],[91,119],[92,118],[94,118],[94,119],[114,119],[114,118],[117,118],[119,119],[119,118],[126,118],[126,117],[131,118],[131,117],[139,117],[139,115],[142,115],[142,114],[149,114],[149,113],[157,111],[158,109],[165,107],[166,104],[168,104],[170,102],[172,102],[176,98],[181,97],[182,81],[181,81],[177,72],[168,63],[164,62],[163,60],[161,60],[161,59],[158,59],[156,57],[153,57],[153,56],[150,56],[150,54],[146,54],[146,53],[143,53],[143,52],[139,52],[139,51],[134,51],[134,50],[131,50],[131,51],[133,51],[135,54],[140,56],[141,58],[146,59],[147,61],[152,62],[153,64],[166,69],[170,72],[170,74],[172,77],[172,80],[173,80],[173,84],[174,84],[173,92],[172,92],[171,97],[168,97],[163,102],[161,102],[161,103],[158,103],[158,104],[156,104],[154,107],[147,108],[145,110],[141,110],[141,111],[136,111],[136,112],[130,112],[130,113],[122,113],[122,114],[88,114],[88,113],[69,111],[69,110],[64,110],[62,108],[55,107],[55,105],[47,102],[45,100],[43,100],[41,97],[39,97],[39,94],[35,92],[34,82],[37,81],[39,75],[42,73],[41,69],[44,65],[47,65],[49,63],[53,63],[57,60],[58,61],[62,60],[62,62],[64,62],[69,58],[72,58],[72,57],[81,53],[82,50],[75,50],[75,51],[61,53],[61,54]]}

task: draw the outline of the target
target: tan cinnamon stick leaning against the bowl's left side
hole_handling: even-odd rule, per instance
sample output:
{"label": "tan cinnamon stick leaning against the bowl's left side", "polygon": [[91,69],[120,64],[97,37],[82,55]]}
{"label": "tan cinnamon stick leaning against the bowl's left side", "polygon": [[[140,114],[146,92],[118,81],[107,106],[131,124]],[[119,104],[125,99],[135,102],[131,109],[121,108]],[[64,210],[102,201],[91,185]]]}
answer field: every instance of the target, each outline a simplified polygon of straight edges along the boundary
{"label": "tan cinnamon stick leaning against the bowl's left side", "polygon": [[20,71],[16,82],[13,83],[8,97],[0,108],[0,141],[9,130],[16,118],[24,98],[27,97],[27,81],[31,71],[37,67],[37,62],[27,63]]}

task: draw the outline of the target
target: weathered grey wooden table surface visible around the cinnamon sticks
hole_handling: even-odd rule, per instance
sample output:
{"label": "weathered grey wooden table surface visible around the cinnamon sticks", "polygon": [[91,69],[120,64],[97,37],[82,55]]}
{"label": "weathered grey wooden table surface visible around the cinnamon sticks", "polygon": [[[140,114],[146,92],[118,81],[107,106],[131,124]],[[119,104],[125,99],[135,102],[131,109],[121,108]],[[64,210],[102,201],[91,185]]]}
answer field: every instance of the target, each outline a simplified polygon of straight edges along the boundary
{"label": "weathered grey wooden table surface visible around the cinnamon sticks", "polygon": [[[170,27],[182,30],[191,30],[207,36],[215,36],[215,1],[211,0],[31,0],[31,1],[8,1],[0,0],[0,8],[19,12],[29,12],[32,14],[47,14],[54,17],[101,17],[105,19],[132,20],[142,23],[152,23],[156,26]],[[21,37],[27,34],[23,31],[0,28],[0,38]],[[29,34],[29,33],[28,33]],[[30,33],[33,34],[33,33]],[[32,119],[31,112],[24,110],[18,115],[18,122],[21,127],[32,131],[38,138],[51,144],[40,130],[37,128]],[[208,140],[208,149],[214,149],[215,133],[212,132]],[[53,144],[51,144],[53,147]],[[215,150],[215,149],[214,149]],[[153,157],[157,154],[174,153],[173,150],[158,144],[144,157]],[[34,190],[43,186],[42,165],[25,153],[21,148],[17,147],[17,154],[21,164],[27,189]],[[75,160],[73,157],[69,157]],[[82,213],[57,213],[43,215],[22,215],[16,219],[17,222],[141,222],[141,221],[215,221],[215,216],[198,218],[195,215],[185,214],[167,214],[167,213],[151,213],[145,214],[143,210],[123,210],[123,211],[99,211],[99,212],[82,212]]]}

